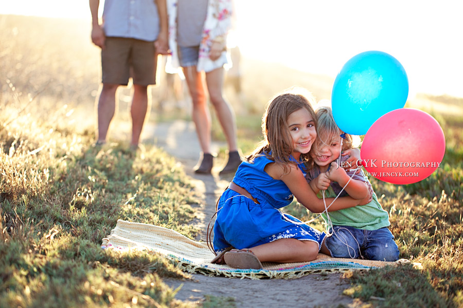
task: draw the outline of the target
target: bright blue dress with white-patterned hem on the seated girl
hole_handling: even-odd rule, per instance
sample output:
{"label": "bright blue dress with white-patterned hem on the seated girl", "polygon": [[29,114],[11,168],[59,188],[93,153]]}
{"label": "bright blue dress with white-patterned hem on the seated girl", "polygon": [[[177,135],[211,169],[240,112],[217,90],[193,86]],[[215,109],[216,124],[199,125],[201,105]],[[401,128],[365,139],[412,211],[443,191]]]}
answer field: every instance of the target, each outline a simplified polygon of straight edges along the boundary
{"label": "bright blue dress with white-patterned hem on the seated girl", "polygon": [[[283,238],[314,241],[321,246],[326,234],[306,225],[295,224],[282,216],[279,208],[289,205],[293,195],[281,180],[269,176],[264,168],[273,160],[258,156],[252,163],[242,162],[233,182],[259,201],[226,189],[219,199],[214,224],[213,246],[216,253],[233,246],[251,248]],[[302,166],[299,165],[302,170]],[[286,214],[292,221],[300,220]]]}

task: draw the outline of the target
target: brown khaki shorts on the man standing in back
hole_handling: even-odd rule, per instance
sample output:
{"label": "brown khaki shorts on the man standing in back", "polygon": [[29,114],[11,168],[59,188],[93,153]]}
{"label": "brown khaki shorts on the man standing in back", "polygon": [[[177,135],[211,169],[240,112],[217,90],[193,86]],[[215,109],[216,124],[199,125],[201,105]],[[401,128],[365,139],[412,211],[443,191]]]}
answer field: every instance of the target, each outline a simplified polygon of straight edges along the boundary
{"label": "brown khaki shorts on the man standing in back", "polygon": [[127,85],[156,84],[157,55],[154,42],[125,37],[106,37],[101,50],[102,82]]}

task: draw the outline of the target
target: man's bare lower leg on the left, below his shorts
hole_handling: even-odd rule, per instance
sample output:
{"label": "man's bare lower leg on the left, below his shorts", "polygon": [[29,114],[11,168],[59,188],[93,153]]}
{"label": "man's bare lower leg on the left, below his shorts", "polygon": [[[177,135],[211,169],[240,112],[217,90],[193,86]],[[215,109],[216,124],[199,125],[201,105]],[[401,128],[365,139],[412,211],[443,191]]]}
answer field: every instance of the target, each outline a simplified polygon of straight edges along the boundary
{"label": "man's bare lower leg on the left, below his shorts", "polygon": [[97,143],[106,142],[109,126],[116,111],[116,91],[118,85],[103,83],[97,102],[98,137]]}

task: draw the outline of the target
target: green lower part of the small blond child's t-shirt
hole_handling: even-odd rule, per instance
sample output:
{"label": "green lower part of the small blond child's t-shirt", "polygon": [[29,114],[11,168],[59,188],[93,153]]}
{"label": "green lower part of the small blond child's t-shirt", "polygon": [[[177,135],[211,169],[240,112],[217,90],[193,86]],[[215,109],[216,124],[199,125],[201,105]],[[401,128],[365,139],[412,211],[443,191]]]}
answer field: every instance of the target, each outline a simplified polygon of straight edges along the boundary
{"label": "green lower part of the small blond child's t-shirt", "polygon": [[[322,192],[317,195],[322,198]],[[325,190],[325,198],[335,198],[336,194],[331,186]],[[329,204],[327,204],[328,206]],[[373,200],[365,205],[357,205],[354,207],[344,208],[328,212],[331,223],[336,226],[351,226],[365,230],[377,230],[379,228],[387,227],[390,225],[389,214],[385,211],[381,204],[378,202],[378,197],[373,192]],[[322,217],[327,223],[328,219],[326,213],[322,213]]]}

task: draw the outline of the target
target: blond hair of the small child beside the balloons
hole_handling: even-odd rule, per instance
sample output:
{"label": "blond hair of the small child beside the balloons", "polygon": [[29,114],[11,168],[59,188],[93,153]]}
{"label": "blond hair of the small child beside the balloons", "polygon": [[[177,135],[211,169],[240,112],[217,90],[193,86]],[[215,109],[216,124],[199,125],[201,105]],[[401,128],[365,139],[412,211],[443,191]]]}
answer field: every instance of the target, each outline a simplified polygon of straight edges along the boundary
{"label": "blond hair of the small child beside the balloons", "polygon": [[[310,150],[311,153],[318,153],[324,145],[330,145],[333,141],[338,141],[341,138],[341,134],[344,133],[341,129],[339,129],[339,127],[337,127],[330,107],[318,107],[315,110],[315,115],[317,118],[317,139],[312,145]],[[351,148],[352,136],[346,133],[345,139],[343,139],[342,150],[344,151]]]}

